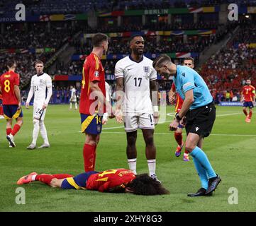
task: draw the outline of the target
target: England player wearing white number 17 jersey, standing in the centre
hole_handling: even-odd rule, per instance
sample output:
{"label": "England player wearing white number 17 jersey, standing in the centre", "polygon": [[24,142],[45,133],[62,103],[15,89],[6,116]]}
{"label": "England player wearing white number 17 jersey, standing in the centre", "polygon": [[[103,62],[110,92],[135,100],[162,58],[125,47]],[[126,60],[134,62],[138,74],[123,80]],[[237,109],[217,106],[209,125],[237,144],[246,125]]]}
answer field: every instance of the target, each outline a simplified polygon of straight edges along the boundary
{"label": "England player wearing white number 17 jersey, standing in the centre", "polygon": [[[116,77],[116,121],[124,122],[130,170],[136,174],[137,129],[143,131],[146,157],[150,177],[158,181],[155,174],[156,148],[154,129],[158,121],[157,72],[152,60],[143,56],[144,40],[140,35],[130,39],[131,54],[119,60],[115,66]],[[124,93],[123,93],[124,92]]]}

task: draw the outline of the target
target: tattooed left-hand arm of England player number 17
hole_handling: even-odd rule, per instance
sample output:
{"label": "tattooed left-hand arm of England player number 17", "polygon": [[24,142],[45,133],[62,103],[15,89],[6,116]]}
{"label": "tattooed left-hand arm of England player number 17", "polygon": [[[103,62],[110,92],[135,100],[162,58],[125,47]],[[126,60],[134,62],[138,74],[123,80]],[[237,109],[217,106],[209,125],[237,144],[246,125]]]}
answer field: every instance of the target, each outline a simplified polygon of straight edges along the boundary
{"label": "tattooed left-hand arm of England player number 17", "polygon": [[123,104],[124,95],[124,80],[123,77],[116,78],[116,121],[118,123],[123,122],[123,113],[121,112],[121,105]]}

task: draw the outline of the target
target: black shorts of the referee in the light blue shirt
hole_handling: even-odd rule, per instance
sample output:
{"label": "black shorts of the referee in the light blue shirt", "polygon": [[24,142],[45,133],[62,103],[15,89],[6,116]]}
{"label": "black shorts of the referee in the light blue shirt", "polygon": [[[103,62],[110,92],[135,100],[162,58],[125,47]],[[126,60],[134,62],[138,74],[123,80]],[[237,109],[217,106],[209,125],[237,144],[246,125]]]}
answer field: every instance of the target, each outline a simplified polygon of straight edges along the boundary
{"label": "black shorts of the referee in the light blue shirt", "polygon": [[216,118],[214,102],[203,107],[189,110],[186,117],[187,124],[185,128],[187,135],[189,133],[196,133],[202,138],[209,136]]}

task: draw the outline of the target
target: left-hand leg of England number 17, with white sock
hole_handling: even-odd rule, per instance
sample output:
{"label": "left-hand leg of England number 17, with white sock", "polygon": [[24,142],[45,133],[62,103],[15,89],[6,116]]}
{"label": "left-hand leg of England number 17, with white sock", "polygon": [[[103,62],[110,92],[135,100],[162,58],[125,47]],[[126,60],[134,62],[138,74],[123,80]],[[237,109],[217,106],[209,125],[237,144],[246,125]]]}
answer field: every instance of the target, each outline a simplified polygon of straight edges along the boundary
{"label": "left-hand leg of England number 17, with white sock", "polygon": [[126,155],[127,155],[129,169],[134,174],[137,174],[137,172],[136,172],[136,163],[137,163],[137,149],[136,149],[137,131],[126,133],[126,139],[127,139]]}

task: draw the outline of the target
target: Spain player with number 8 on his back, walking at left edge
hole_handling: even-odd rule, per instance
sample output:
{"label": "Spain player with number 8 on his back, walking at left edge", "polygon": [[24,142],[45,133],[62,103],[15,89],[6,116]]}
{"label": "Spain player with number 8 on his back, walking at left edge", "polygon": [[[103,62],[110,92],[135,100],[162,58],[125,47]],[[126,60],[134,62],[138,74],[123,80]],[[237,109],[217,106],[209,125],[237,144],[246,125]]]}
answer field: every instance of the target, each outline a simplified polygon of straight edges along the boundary
{"label": "Spain player with number 8 on his back, walking at left edge", "polygon": [[[14,136],[21,129],[23,124],[23,112],[21,110],[21,93],[18,85],[20,78],[15,73],[16,61],[9,60],[7,67],[9,71],[0,77],[0,90],[3,95],[4,118],[6,119],[6,138],[9,147],[15,147]],[[16,119],[16,124],[12,129],[12,120]]]}

